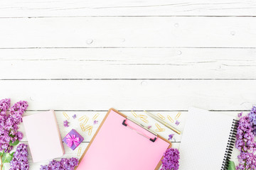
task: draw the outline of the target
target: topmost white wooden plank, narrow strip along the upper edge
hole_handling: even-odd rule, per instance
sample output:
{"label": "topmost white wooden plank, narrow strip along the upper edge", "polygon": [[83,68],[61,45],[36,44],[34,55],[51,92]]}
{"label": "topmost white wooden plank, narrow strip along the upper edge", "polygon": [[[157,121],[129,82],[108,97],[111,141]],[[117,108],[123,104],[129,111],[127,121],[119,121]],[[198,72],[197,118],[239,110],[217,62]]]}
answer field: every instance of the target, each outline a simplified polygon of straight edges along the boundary
{"label": "topmost white wooden plank, narrow strip along the upper edge", "polygon": [[255,16],[255,1],[1,1],[2,17],[36,16]]}

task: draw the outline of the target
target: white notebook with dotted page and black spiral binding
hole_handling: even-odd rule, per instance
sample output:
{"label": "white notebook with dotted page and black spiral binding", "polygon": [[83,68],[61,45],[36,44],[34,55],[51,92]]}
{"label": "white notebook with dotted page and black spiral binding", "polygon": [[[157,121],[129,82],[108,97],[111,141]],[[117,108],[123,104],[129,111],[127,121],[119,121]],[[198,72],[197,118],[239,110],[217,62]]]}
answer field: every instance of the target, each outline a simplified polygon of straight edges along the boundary
{"label": "white notebook with dotted page and black spiral binding", "polygon": [[179,149],[180,169],[227,169],[235,143],[237,122],[230,115],[190,108]]}

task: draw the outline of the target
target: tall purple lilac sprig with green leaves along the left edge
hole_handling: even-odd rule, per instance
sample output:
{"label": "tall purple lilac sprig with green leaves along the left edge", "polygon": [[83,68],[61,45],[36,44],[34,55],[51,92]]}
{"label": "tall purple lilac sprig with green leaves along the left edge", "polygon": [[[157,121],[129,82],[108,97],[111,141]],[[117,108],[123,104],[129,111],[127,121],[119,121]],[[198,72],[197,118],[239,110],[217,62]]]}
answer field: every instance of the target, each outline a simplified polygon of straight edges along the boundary
{"label": "tall purple lilac sprig with green leaves along the left edge", "polygon": [[[1,169],[5,163],[9,163],[13,153],[9,154],[14,146],[23,138],[22,132],[18,132],[18,125],[22,122],[22,115],[28,108],[26,101],[18,101],[11,106],[11,99],[0,101],[0,163]],[[10,108],[10,112],[7,113]]]}

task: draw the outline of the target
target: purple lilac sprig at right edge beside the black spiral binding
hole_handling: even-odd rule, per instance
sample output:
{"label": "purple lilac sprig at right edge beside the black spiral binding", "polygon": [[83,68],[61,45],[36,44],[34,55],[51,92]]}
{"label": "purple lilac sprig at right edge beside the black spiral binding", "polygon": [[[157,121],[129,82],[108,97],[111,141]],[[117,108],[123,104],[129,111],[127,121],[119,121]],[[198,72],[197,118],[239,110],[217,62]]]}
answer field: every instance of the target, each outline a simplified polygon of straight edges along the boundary
{"label": "purple lilac sprig at right edge beside the black spiral binding", "polygon": [[250,120],[250,114],[243,116],[239,120],[237,140],[235,141],[235,147],[240,151],[238,156],[239,165],[236,166],[237,170],[256,169],[256,142]]}

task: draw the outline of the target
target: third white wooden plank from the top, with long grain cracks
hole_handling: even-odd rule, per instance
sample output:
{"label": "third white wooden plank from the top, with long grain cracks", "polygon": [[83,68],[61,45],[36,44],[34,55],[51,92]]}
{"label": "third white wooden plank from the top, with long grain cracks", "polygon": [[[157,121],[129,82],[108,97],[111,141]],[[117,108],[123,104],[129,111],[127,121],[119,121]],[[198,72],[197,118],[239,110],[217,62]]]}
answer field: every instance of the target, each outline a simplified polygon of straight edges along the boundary
{"label": "third white wooden plank from the top, with long grain cracks", "polygon": [[1,49],[0,79],[255,79],[255,57],[247,48]]}

